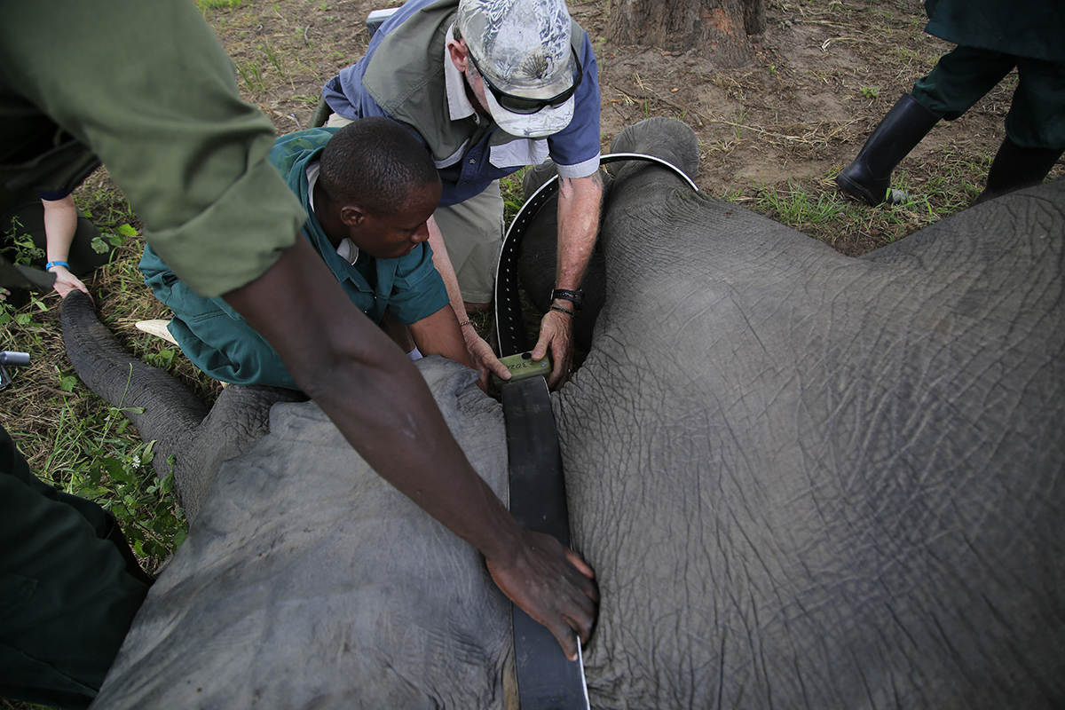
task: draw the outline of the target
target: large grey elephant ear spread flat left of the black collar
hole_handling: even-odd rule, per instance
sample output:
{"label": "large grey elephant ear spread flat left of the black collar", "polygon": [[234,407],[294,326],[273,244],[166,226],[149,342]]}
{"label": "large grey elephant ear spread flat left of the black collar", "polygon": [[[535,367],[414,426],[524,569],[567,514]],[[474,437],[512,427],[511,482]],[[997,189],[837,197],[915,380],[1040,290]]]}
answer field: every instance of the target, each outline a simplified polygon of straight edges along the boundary
{"label": "large grey elephant ear spread flat left of the black collar", "polygon": [[[454,362],[419,365],[505,493],[498,403]],[[487,708],[501,704],[509,648],[509,602],[479,554],[375,474],[316,404],[279,404],[271,433],[223,465],[96,707]]]}

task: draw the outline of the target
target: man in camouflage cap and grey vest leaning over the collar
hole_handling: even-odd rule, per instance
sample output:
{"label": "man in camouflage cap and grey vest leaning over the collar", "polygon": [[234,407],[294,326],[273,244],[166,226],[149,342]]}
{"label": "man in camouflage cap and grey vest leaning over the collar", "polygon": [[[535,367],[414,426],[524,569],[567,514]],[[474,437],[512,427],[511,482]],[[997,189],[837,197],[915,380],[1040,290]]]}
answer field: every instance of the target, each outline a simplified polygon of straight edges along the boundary
{"label": "man in camouflage cap and grey vest leaning over the collar", "polygon": [[[444,192],[429,244],[460,323],[492,300],[503,237],[498,179],[554,161],[559,261],[532,357],[541,360],[550,349],[548,381],[564,382],[602,198],[595,55],[566,3],[410,0],[323,95],[334,114],[328,125],[388,116],[432,153]],[[471,326],[463,335],[482,370],[507,376]]]}

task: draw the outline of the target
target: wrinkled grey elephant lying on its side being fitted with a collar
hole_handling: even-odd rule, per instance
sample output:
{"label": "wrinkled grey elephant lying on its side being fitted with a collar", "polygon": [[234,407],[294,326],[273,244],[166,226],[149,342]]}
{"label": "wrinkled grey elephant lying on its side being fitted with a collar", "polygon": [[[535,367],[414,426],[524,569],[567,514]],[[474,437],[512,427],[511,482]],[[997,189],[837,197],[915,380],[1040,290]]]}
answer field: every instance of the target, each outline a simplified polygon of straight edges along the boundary
{"label": "wrinkled grey elephant lying on its side being fitted with a collar", "polygon": [[[612,149],[698,165],[672,119]],[[552,395],[591,707],[1065,704],[1065,183],[862,258],[655,165],[603,212],[603,307]],[[506,500],[499,404],[420,366]],[[94,708],[514,707],[482,560],[313,401],[202,500]]]}

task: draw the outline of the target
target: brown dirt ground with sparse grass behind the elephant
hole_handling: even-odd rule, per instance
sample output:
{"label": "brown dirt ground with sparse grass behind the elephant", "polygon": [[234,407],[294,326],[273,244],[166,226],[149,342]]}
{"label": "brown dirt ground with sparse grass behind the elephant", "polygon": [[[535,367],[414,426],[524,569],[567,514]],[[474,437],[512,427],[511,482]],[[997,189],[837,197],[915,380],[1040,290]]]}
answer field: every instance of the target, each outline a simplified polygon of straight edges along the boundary
{"label": "brown dirt ground with sparse grass behind the elephant", "polygon": [[[321,85],[364,53],[366,15],[395,4],[244,0],[206,15],[234,59],[242,92],[288,133],[308,127]],[[751,37],[754,61],[721,68],[694,51],[609,40],[609,0],[570,0],[569,6],[599,57],[604,152],[628,125],[678,118],[700,139],[700,187],[770,216],[777,215],[769,196],[838,200],[832,177],[951,48],[922,31],[919,0],[774,0],[766,31]],[[823,227],[793,226],[857,254],[927,225],[922,212],[938,218],[962,209],[983,186],[1014,85],[1007,78],[961,119],[941,122],[900,166],[897,184],[931,193],[931,203],[900,211],[888,227],[862,212]]]}

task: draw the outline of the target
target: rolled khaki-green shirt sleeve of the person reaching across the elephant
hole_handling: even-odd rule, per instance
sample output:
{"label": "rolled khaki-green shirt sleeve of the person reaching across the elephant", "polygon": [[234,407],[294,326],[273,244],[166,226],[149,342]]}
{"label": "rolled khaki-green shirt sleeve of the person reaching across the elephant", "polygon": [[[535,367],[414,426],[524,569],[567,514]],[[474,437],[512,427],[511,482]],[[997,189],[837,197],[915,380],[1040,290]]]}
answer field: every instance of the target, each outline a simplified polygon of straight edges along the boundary
{"label": "rolled khaki-green shirt sleeve of the person reaching across the elephant", "polygon": [[307,216],[267,162],[274,127],[191,0],[3,6],[2,90],[100,158],[189,286],[232,291],[295,243]]}

